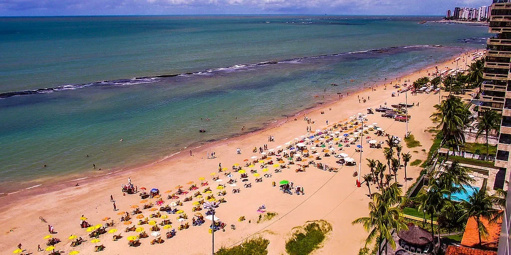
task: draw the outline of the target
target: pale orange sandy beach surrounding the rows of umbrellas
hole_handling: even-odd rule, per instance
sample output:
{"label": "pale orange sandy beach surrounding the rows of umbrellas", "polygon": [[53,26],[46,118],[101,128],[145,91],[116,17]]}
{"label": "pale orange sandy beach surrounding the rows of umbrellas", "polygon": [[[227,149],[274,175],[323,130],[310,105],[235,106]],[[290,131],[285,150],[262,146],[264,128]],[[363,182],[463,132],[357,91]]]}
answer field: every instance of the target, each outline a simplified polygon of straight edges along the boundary
{"label": "pale orange sandy beach surrounding the rows of umbrellas", "polygon": [[[463,55],[464,56],[464,55]],[[445,69],[446,66],[450,68],[456,67],[456,62],[449,60],[445,63],[438,64],[439,69]],[[469,57],[470,61],[470,57]],[[470,63],[469,63],[470,64]],[[411,84],[417,78],[427,76],[428,72],[434,70],[434,66],[405,75],[401,78],[400,84],[403,85],[404,80],[410,80]],[[430,77],[433,78],[433,77]],[[198,149],[193,149],[193,156],[190,156],[188,150],[183,150],[180,154],[166,159],[164,161],[154,163],[147,166],[137,167],[134,169],[124,170],[112,173],[108,176],[96,177],[87,180],[80,180],[74,182],[66,182],[51,187],[36,187],[30,190],[24,190],[16,194],[8,195],[0,198],[2,206],[0,206],[0,230],[3,232],[2,242],[0,243],[0,253],[12,254],[16,249],[18,243],[22,244],[22,249],[26,249],[25,253],[33,252],[33,254],[48,254],[48,251],[37,251],[37,245],[40,244],[41,248],[45,249],[45,239],[47,236],[48,224],[55,228],[56,234],[53,237],[59,238],[60,243],[56,244],[56,250],[68,254],[69,251],[78,250],[82,254],[94,253],[94,246],[103,244],[106,246],[101,254],[159,254],[165,250],[167,254],[207,254],[211,253],[211,234],[208,233],[208,225],[210,222],[201,226],[190,226],[187,230],[177,231],[179,222],[176,221],[177,214],[169,214],[168,219],[172,221],[172,228],[176,228],[177,235],[172,239],[165,239],[165,243],[151,245],[150,241],[153,237],[141,239],[141,246],[129,247],[128,236],[135,233],[124,233],[126,226],[120,222],[119,212],[131,212],[132,206],[137,205],[142,207],[141,197],[138,194],[124,195],[121,191],[122,184],[128,184],[128,177],[131,182],[140,188],[146,187],[148,190],[152,188],[159,189],[163,200],[164,206],[169,205],[170,202],[183,199],[187,196],[193,195],[197,191],[203,191],[206,186],[201,187],[199,177],[204,177],[208,182],[207,187],[211,187],[213,195],[217,199],[225,198],[226,203],[222,203],[216,210],[216,216],[227,224],[225,232],[215,232],[215,247],[216,249],[221,246],[231,246],[240,244],[244,239],[254,236],[263,236],[270,241],[268,246],[269,254],[285,254],[286,237],[289,235],[291,229],[295,226],[303,225],[309,220],[324,219],[333,225],[333,231],[328,240],[324,242],[324,246],[317,251],[317,254],[339,254],[338,251],[342,250],[342,254],[356,254],[363,246],[364,240],[367,236],[362,226],[353,226],[351,222],[358,217],[366,215],[368,212],[367,203],[369,202],[367,186],[362,185],[360,188],[356,186],[356,179],[354,171],[358,171],[359,166],[349,167],[341,166],[335,163],[338,160],[335,157],[321,157],[322,160],[315,161],[316,163],[327,164],[331,167],[338,168],[338,172],[322,171],[314,166],[306,168],[304,172],[295,172],[297,168],[295,165],[288,165],[289,168],[282,169],[282,172],[275,173],[276,167],[268,165],[271,177],[264,177],[261,172],[260,163],[255,164],[253,168],[244,167],[247,163],[245,160],[252,161],[251,157],[261,158],[262,155],[258,152],[252,152],[254,147],[263,147],[264,144],[268,145],[268,149],[277,150],[278,146],[285,148],[286,143],[295,143],[300,140],[300,136],[313,135],[315,130],[332,129],[334,123],[345,123],[349,121],[349,117],[358,113],[366,114],[367,108],[378,108],[385,105],[390,107],[392,104],[404,103],[405,94],[398,94],[399,96],[392,97],[392,92],[397,92],[397,88],[392,85],[397,81],[393,81],[392,85],[386,81],[385,85],[380,84],[373,89],[365,89],[349,96],[343,95],[342,99],[327,105],[321,105],[308,112],[301,113],[294,118],[284,119],[263,131],[258,131],[248,135],[240,136],[233,139],[217,141]],[[440,96],[444,95],[442,93]],[[359,103],[359,98],[368,99],[366,103]],[[409,109],[411,119],[408,123],[408,131],[415,136],[422,144],[421,147],[407,148],[403,142],[403,153],[410,151],[412,160],[427,158],[427,151],[432,144],[432,137],[428,129],[433,128],[435,125],[430,120],[429,116],[433,113],[435,104],[438,104],[438,94],[407,94],[408,104],[414,103],[420,106]],[[324,114],[322,114],[324,112]],[[308,124],[304,120],[307,116],[314,123]],[[328,121],[328,124],[327,124]],[[384,118],[380,113],[367,115],[366,124],[378,123],[377,126],[381,127],[387,134],[403,138],[405,131],[405,123],[394,121],[393,119]],[[307,132],[307,127],[310,126],[313,132]],[[338,131],[338,130],[333,130]],[[339,130],[340,131],[340,130]],[[342,131],[340,131],[342,134]],[[273,136],[274,141],[269,142],[268,137]],[[362,153],[362,169],[361,174],[368,172],[366,166],[366,158],[377,159],[384,162],[382,149],[369,148],[366,143],[365,136],[370,136],[378,142],[385,141],[385,137],[377,137],[374,132],[363,137],[363,153]],[[298,138],[298,140],[295,140]],[[241,154],[237,154],[237,148],[241,149]],[[343,151],[336,151],[338,154],[344,152],[355,161],[359,161],[360,154],[355,152],[355,145],[350,147],[343,147]],[[207,159],[207,154],[215,152],[216,158]],[[270,152],[265,150],[265,152]],[[324,153],[321,153],[323,155]],[[272,156],[275,160],[275,156]],[[309,159],[314,160],[314,159]],[[249,162],[248,161],[248,162]],[[265,161],[267,162],[267,161]],[[227,195],[217,196],[217,185],[225,184],[229,177],[224,176],[223,172],[218,173],[219,163],[222,167],[227,168],[225,172],[232,172],[233,179],[237,179],[237,187],[240,188],[240,193],[233,194],[231,190],[233,187],[226,185],[225,191]],[[248,172],[248,182],[241,182],[239,173],[232,171],[234,164],[240,164]],[[287,164],[287,161],[286,161]],[[258,169],[261,172],[263,182],[256,183],[255,176],[249,170]],[[415,179],[420,172],[419,167],[407,167],[407,176]],[[404,183],[404,168],[398,172],[398,181],[402,183],[403,190],[405,191],[409,184],[413,181]],[[212,180],[212,173],[219,175],[223,182],[214,182]],[[281,180],[289,180],[295,186],[304,187],[304,195],[289,195],[284,194],[278,188],[278,182]],[[205,182],[204,181],[204,182]],[[198,188],[194,191],[189,191],[189,182],[197,184]],[[277,186],[273,187],[272,182],[276,182]],[[75,186],[79,183],[79,186]],[[244,188],[243,184],[251,183],[251,188]],[[167,195],[177,191],[175,188],[182,185],[185,191],[189,191],[187,195],[180,195],[179,199],[167,199]],[[170,193],[164,193],[167,190],[172,190]],[[371,185],[371,191],[378,191],[375,186]],[[110,195],[115,200],[115,205],[118,211],[113,211],[112,202],[110,202]],[[199,199],[194,198],[193,201]],[[155,202],[156,199],[149,199]],[[267,212],[275,212],[277,215],[269,220],[261,223],[256,223],[260,213],[257,211],[261,205],[265,205]],[[184,222],[189,222],[192,225],[191,218],[195,212],[192,212],[192,202],[184,202],[182,209],[188,214],[189,219]],[[151,212],[148,209],[142,210],[145,217],[149,217]],[[200,211],[202,214],[205,210]],[[167,213],[162,212],[167,215]],[[108,227],[108,230],[117,229],[115,234],[107,233],[102,235],[99,243],[91,243],[85,228],[80,228],[80,217],[84,215],[87,222],[92,225],[104,224],[102,219],[110,217],[114,220],[115,225]],[[245,221],[238,221],[238,218],[245,216]],[[48,223],[41,222],[39,217],[43,217]],[[134,216],[133,216],[134,217]],[[250,220],[250,223],[249,223]],[[110,221],[110,220],[108,220]],[[135,224],[138,219],[132,219]],[[156,220],[158,223],[162,219]],[[131,224],[131,225],[133,225]],[[231,230],[230,225],[236,225],[236,230]],[[130,226],[131,226],[130,225]],[[150,225],[143,225],[148,234]],[[162,229],[161,233],[165,234],[166,230]],[[113,241],[112,236],[120,234],[123,236],[119,241]],[[138,234],[138,233],[136,233]],[[83,244],[78,247],[70,247],[71,241],[68,237],[76,235],[83,237],[85,240]]]}

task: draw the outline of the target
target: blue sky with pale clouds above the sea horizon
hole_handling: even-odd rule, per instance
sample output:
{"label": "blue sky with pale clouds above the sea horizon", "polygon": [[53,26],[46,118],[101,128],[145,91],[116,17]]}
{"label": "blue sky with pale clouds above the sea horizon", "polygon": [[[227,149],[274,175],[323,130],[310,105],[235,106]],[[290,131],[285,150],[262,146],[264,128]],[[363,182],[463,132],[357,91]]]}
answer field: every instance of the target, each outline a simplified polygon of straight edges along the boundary
{"label": "blue sky with pale clouds above the sea horizon", "polygon": [[445,15],[491,0],[0,0],[0,16],[347,14]]}

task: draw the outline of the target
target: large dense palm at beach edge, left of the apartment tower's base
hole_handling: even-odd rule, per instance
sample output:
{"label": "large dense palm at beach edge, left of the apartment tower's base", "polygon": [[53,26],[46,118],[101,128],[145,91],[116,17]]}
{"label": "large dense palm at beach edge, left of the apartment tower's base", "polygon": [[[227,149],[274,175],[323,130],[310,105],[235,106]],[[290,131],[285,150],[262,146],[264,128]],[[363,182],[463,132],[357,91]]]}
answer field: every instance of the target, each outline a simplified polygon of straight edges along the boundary
{"label": "large dense palm at beach edge, left of the apartment tower's base", "polygon": [[449,141],[453,148],[459,149],[459,145],[465,142],[463,129],[469,120],[470,111],[466,108],[466,105],[461,101],[460,97],[452,95],[434,107],[437,112],[433,113],[431,117],[434,117],[435,120],[439,120],[436,127],[441,127],[444,135],[440,146],[443,146]]}

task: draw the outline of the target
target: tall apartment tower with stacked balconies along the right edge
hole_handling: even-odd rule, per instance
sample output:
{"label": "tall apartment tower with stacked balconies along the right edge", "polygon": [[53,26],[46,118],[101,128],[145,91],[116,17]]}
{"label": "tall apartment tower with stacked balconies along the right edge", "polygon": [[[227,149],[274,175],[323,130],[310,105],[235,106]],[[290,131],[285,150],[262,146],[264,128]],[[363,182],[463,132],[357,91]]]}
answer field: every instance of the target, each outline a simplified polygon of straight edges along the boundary
{"label": "tall apartment tower with stacked balconies along the right edge", "polygon": [[[493,109],[502,113],[500,135],[497,143],[495,166],[505,171],[505,180],[511,173],[511,3],[510,0],[493,0],[488,8],[489,32],[496,36],[487,39],[486,61],[481,86],[480,109]],[[510,171],[507,171],[510,170]],[[502,220],[498,255],[511,255],[511,193],[506,198],[506,213]]]}

